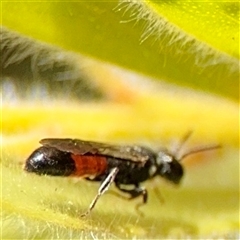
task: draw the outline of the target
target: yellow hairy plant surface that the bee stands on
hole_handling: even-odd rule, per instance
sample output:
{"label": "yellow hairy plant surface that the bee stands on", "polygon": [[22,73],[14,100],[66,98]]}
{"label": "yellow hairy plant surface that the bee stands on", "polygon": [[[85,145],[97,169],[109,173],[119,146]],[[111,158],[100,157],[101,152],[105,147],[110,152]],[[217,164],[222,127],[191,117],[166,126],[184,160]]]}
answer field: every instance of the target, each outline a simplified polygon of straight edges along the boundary
{"label": "yellow hairy plant surface that the bee stands on", "polygon": [[[172,100],[172,94],[151,94],[132,104],[5,103],[1,118],[2,239],[236,239],[238,106],[202,97],[196,100],[188,95],[179,99],[176,95]],[[126,201],[106,193],[91,216],[83,219],[80,215],[97,193],[99,183],[23,171],[25,159],[44,137],[147,144],[157,150],[159,146],[169,147],[171,139],[179,140],[189,126],[196,131],[185,151],[213,143],[221,143],[223,148],[186,159],[179,188],[166,185],[160,177],[142,183],[149,192],[148,203],[141,208],[144,217],[135,210],[141,198]],[[114,185],[111,191],[117,191]]]}

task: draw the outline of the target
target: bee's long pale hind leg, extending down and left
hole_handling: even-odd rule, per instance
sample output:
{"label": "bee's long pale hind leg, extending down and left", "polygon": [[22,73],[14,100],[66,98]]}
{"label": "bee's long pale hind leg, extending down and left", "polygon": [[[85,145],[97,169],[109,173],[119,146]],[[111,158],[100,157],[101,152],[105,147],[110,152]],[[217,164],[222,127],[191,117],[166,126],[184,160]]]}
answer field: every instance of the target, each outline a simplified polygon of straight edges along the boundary
{"label": "bee's long pale hind leg, extending down and left", "polygon": [[117,173],[118,173],[119,169],[117,167],[113,168],[111,170],[111,172],[108,174],[108,176],[106,177],[106,179],[102,182],[100,188],[98,189],[98,193],[95,196],[95,198],[93,199],[93,201],[91,202],[91,204],[89,205],[88,210],[83,213],[81,215],[81,217],[85,217],[87,216],[91,210],[94,208],[94,206],[96,205],[98,199],[108,190],[108,188],[110,187],[110,185],[112,184],[112,182],[114,181]]}

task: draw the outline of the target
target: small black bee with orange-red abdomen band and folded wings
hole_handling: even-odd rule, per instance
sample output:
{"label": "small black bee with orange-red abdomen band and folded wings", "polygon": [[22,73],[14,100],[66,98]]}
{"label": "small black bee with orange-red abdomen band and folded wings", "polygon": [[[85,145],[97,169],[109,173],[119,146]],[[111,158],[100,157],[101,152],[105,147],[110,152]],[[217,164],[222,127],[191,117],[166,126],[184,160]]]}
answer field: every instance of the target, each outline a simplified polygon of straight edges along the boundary
{"label": "small black bee with orange-red abdomen band and folded wings", "polygon": [[[88,215],[98,199],[111,183],[130,195],[129,199],[143,197],[147,202],[148,193],[140,183],[161,176],[174,184],[179,184],[184,170],[180,161],[187,156],[202,151],[219,148],[219,145],[195,148],[178,157],[180,148],[189,138],[182,140],[176,153],[168,150],[154,152],[142,146],[118,146],[79,139],[46,138],[27,159],[24,169],[39,175],[83,177],[90,181],[101,182],[97,195],[88,210]],[[133,186],[129,189],[129,186]]]}

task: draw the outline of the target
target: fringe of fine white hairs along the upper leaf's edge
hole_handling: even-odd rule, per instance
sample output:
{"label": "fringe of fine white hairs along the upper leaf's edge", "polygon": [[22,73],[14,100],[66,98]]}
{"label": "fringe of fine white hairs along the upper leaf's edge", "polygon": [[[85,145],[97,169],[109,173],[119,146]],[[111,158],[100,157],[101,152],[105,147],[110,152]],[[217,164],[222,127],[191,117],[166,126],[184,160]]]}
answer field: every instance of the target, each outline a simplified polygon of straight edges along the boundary
{"label": "fringe of fine white hairs along the upper leaf's edge", "polygon": [[[176,24],[161,16],[151,8],[149,4],[142,0],[119,0],[114,11],[122,14],[121,23],[141,22],[142,31],[139,36],[139,43],[142,44],[151,39],[152,44],[157,44],[157,51],[168,51],[169,54],[176,55],[179,61],[194,57],[194,64],[199,68],[206,68],[219,64],[227,64],[228,72],[238,71],[237,59],[213,49],[194,36],[183,31]],[[154,46],[155,47],[155,46]],[[184,59],[181,53],[184,54]],[[232,63],[232,64],[229,64]]]}

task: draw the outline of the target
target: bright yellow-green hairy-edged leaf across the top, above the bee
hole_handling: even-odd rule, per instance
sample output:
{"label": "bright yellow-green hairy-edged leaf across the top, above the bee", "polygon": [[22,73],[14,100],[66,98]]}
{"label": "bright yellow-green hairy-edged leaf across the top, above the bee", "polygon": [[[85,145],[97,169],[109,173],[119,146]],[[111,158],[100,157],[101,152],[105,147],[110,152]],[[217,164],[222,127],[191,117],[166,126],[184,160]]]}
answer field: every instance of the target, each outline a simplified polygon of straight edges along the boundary
{"label": "bright yellow-green hairy-edged leaf across the top, above the bee", "polygon": [[158,80],[238,99],[237,2],[6,1],[2,24]]}

